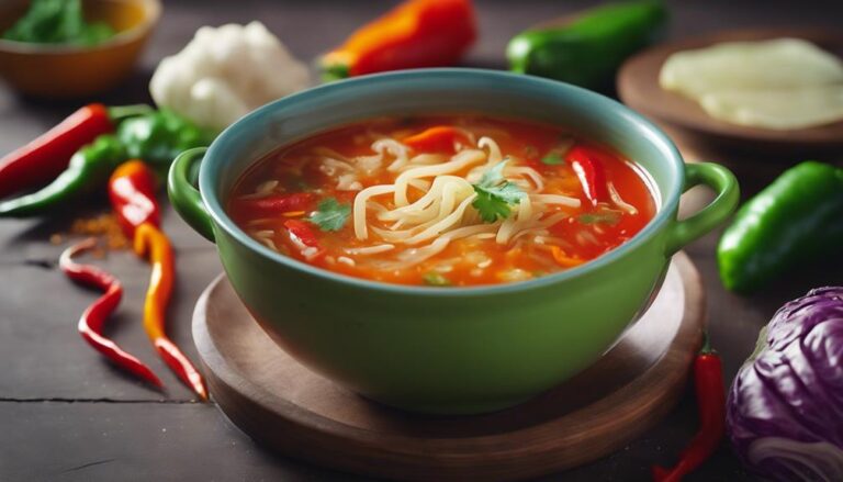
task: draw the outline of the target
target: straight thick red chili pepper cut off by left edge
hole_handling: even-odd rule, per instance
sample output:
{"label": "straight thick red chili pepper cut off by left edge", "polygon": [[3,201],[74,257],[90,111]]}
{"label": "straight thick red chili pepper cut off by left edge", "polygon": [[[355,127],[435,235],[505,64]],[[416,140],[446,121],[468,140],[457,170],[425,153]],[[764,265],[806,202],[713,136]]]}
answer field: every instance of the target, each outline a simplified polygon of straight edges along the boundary
{"label": "straight thick red chili pepper cut off by left edge", "polygon": [[86,105],[35,141],[0,159],[0,198],[55,179],[67,169],[70,157],[114,123],[102,104]]}

